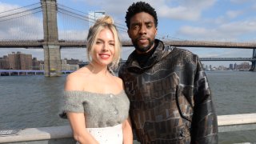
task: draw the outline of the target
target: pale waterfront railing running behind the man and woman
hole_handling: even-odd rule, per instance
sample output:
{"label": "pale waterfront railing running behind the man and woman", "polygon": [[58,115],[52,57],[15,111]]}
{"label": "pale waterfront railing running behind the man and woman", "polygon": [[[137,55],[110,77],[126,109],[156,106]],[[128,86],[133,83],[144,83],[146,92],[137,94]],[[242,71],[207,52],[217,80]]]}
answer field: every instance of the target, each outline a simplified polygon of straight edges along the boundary
{"label": "pale waterfront railing running behind the man and woman", "polygon": [[[220,133],[238,130],[256,130],[256,113],[218,116]],[[0,136],[0,143],[3,142],[75,143],[70,126],[27,128],[20,130],[16,135]]]}

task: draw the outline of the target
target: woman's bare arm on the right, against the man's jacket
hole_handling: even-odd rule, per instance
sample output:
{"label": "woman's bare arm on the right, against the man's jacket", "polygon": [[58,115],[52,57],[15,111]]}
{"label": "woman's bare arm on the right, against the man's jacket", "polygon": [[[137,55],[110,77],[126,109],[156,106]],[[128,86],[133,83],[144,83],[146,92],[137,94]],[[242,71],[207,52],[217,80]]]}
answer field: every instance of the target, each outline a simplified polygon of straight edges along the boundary
{"label": "woman's bare arm on the right, against the man's jacket", "polygon": [[122,122],[122,134],[123,134],[123,143],[132,144],[133,143],[133,131],[130,124],[130,118],[127,118]]}

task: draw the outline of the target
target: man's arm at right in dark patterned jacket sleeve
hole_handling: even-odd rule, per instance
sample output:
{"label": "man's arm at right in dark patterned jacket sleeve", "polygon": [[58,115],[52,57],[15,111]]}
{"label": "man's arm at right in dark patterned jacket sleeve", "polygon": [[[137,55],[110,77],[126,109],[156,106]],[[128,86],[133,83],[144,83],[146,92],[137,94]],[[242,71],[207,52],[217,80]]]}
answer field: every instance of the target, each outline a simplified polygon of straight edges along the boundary
{"label": "man's arm at right in dark patterned jacket sleeve", "polygon": [[194,77],[194,114],[191,143],[218,143],[218,122],[206,74],[197,62]]}

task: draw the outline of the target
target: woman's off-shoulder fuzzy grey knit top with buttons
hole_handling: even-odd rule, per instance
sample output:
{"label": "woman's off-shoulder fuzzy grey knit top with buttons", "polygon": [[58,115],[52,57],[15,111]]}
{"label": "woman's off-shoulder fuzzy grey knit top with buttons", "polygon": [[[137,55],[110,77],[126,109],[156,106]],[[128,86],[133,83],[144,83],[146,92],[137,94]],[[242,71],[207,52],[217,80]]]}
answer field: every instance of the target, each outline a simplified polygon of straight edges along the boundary
{"label": "woman's off-shoulder fuzzy grey knit top with buttons", "polygon": [[87,128],[115,126],[128,118],[129,107],[124,90],[119,94],[64,91],[60,116],[66,118],[66,112],[85,113]]}

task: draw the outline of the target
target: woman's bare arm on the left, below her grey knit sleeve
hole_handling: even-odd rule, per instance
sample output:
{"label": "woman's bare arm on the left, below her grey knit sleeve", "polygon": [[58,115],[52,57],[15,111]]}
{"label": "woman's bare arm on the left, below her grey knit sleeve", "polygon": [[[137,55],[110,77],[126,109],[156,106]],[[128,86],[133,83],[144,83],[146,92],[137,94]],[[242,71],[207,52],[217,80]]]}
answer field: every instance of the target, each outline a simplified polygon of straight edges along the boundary
{"label": "woman's bare arm on the left, below her grey knit sleeve", "polygon": [[70,121],[70,126],[73,130],[74,139],[80,144],[98,143],[96,139],[86,130],[85,114],[82,113],[67,113]]}

